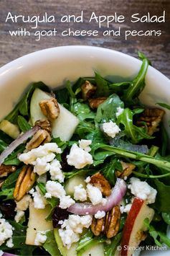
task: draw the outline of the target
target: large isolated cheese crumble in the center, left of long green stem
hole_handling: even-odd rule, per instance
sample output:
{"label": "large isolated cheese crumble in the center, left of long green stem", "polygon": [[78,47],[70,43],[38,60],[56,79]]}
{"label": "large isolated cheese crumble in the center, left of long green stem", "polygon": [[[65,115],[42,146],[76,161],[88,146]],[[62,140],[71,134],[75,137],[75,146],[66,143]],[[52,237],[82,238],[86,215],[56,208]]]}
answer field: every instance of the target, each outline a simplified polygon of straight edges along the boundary
{"label": "large isolated cheese crumble in the center, left of long green stem", "polygon": [[77,169],[81,169],[87,164],[93,164],[93,157],[87,151],[77,146],[77,144],[73,144],[70,154],[67,155],[67,163]]}

